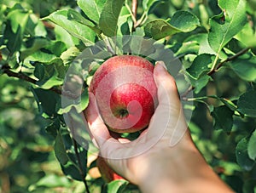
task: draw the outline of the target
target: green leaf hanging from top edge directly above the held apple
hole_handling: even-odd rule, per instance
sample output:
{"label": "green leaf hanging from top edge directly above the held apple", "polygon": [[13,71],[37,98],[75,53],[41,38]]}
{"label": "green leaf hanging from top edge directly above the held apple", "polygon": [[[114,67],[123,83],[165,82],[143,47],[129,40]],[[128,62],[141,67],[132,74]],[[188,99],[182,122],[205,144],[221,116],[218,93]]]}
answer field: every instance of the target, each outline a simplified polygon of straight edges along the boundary
{"label": "green leaf hanging from top edge directly above the held apple", "polygon": [[114,37],[117,34],[117,24],[119,14],[125,0],[107,0],[99,20],[99,25],[102,32],[108,37]]}

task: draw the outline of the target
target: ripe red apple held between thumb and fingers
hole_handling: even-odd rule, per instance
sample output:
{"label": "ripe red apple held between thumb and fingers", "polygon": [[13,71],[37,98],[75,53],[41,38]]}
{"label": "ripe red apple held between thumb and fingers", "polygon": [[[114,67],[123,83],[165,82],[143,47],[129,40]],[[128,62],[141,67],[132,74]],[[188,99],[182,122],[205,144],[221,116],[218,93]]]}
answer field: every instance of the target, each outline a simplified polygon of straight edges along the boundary
{"label": "ripe red apple held between thumb and fingers", "polygon": [[89,90],[109,130],[134,133],[148,126],[158,104],[153,71],[135,55],[114,56],[96,70]]}

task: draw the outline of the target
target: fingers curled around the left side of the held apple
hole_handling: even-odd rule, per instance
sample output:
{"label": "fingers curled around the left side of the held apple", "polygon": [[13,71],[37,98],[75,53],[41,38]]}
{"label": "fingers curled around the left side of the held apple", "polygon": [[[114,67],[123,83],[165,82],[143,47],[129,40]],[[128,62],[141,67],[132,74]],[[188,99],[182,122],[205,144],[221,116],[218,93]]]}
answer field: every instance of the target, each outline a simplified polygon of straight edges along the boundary
{"label": "fingers curled around the left side of the held apple", "polygon": [[85,117],[89,125],[90,133],[92,134],[92,140],[101,148],[102,144],[111,136],[99,114],[94,94],[89,93],[89,99],[90,102],[85,110]]}

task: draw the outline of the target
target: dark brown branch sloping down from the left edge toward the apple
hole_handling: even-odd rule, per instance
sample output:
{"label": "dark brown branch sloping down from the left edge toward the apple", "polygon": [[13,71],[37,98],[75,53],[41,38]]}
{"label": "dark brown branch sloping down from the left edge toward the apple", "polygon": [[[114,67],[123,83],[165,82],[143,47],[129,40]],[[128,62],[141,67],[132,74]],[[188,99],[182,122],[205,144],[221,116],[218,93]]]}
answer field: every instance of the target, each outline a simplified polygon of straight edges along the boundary
{"label": "dark brown branch sloping down from the left edge toward the apple", "polygon": [[[32,84],[37,85],[37,80],[33,79],[32,77],[28,77],[25,74],[21,73],[21,72],[15,72],[15,71],[11,71],[9,69],[9,66],[4,65],[2,67],[3,73],[5,73],[8,77],[17,77],[21,80],[24,80],[26,82],[31,82]],[[58,88],[49,88],[49,90],[55,92],[56,94],[61,94],[61,90]]]}

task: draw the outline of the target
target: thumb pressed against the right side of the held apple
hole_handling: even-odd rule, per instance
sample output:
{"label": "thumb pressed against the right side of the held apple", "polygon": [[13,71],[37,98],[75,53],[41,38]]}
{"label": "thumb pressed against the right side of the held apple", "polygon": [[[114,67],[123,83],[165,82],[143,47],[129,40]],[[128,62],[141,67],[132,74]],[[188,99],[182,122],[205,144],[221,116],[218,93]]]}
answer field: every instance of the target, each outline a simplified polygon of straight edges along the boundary
{"label": "thumb pressed against the right side of the held apple", "polygon": [[149,124],[147,138],[160,140],[164,137],[173,145],[183,137],[187,124],[176,82],[166,71],[166,65],[162,61],[157,62],[154,67],[154,81],[158,88],[159,105]]}

